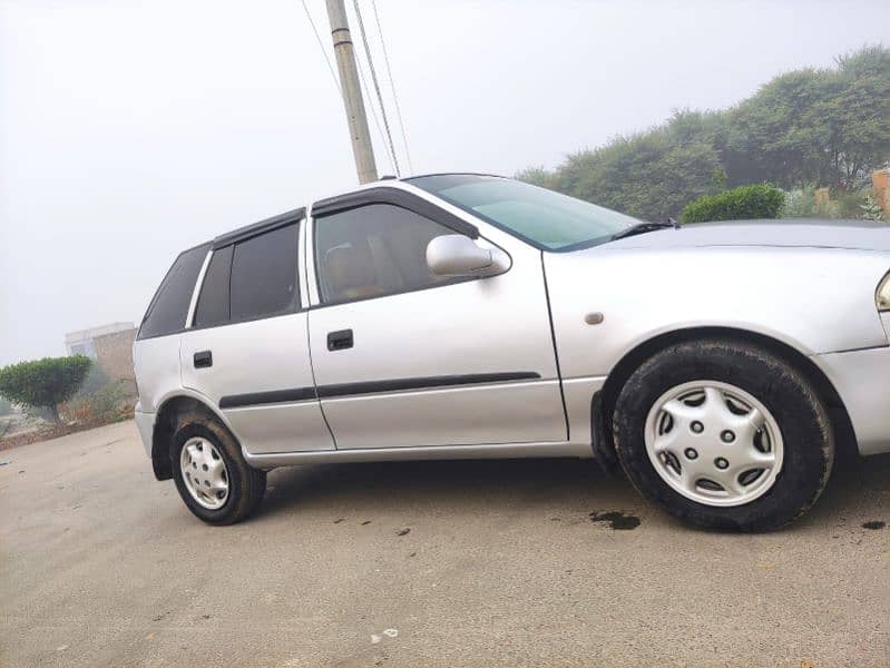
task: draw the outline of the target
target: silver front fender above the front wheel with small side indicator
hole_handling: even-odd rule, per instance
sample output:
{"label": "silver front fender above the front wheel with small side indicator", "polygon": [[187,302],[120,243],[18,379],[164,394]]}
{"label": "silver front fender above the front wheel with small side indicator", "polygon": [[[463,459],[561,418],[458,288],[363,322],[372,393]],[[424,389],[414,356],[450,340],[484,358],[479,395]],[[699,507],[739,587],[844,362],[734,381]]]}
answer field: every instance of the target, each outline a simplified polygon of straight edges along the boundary
{"label": "silver front fender above the front wheel with small side indicator", "polygon": [[[806,355],[888,344],[874,289],[890,254],[610,246],[545,254],[564,379],[608,374],[645,341],[694,327],[749,331]],[[603,322],[587,324],[589,313]]]}

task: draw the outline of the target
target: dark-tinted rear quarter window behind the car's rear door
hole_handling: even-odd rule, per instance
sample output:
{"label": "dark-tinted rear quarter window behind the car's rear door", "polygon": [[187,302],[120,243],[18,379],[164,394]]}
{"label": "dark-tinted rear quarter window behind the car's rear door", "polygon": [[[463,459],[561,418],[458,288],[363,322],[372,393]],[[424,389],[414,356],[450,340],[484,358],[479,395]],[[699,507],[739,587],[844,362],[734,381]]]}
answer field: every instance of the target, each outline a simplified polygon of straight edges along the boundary
{"label": "dark-tinted rear quarter window behind the car's rear door", "polygon": [[139,338],[174,334],[185,327],[192,294],[208,248],[209,244],[204,244],[176,258],[148,306],[139,327]]}

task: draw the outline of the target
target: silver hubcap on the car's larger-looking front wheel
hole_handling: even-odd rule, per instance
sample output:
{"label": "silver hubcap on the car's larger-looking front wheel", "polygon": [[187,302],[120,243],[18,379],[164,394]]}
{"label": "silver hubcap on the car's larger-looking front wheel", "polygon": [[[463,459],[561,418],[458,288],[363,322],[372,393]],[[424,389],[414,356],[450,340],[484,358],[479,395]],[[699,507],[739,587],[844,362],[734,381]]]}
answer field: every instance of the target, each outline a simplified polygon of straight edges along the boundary
{"label": "silver hubcap on the car's larger-looking front wheel", "polygon": [[775,418],[753,395],[718,381],[684,383],[659,396],[645,442],[658,475],[705,505],[750,503],[782,470]]}

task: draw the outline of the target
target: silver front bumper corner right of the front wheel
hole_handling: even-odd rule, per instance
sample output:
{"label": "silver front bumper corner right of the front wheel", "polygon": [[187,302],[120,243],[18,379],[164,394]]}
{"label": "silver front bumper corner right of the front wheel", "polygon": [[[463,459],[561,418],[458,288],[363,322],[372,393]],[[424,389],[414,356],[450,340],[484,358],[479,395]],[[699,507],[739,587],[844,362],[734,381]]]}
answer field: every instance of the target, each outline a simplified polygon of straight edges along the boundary
{"label": "silver front bumper corner right of the front wheel", "polygon": [[853,423],[859,452],[890,452],[890,347],[815,355]]}

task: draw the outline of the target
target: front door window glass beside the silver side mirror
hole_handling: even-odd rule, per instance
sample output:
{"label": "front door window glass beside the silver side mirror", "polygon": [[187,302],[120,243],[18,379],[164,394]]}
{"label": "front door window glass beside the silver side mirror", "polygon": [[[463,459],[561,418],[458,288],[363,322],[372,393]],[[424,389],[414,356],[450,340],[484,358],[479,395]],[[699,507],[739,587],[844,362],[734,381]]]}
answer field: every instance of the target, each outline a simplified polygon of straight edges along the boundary
{"label": "front door window glass beside the silver side mirror", "polygon": [[317,219],[315,264],[323,302],[346,302],[427,287],[447,276],[427,266],[427,245],[454,230],[390,204]]}

